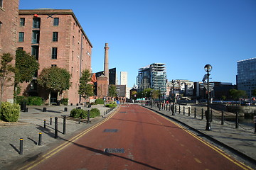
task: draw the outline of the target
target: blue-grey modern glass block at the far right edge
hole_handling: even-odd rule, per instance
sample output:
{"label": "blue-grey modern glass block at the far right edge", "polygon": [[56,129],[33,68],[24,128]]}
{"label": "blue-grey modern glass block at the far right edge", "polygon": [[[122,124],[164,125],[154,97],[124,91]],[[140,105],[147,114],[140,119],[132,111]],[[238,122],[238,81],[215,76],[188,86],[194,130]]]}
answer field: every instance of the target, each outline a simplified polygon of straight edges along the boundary
{"label": "blue-grey modern glass block at the far right edge", "polygon": [[256,58],[238,61],[238,90],[246,91],[249,98],[256,89]]}

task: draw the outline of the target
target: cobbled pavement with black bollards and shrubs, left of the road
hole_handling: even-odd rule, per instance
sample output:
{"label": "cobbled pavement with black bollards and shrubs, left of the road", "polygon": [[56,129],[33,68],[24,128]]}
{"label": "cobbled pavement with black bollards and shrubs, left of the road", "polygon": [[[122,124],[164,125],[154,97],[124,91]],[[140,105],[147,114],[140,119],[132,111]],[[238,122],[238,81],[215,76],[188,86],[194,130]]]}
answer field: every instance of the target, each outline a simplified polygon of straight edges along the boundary
{"label": "cobbled pavement with black bollards and shrubs, left of the road", "polygon": [[[46,112],[43,108],[46,107]],[[68,108],[65,112],[64,108]],[[17,123],[4,123],[0,121],[0,169],[6,169],[10,164],[23,164],[28,159],[36,159],[40,154],[46,152],[53,145],[60,145],[61,142],[70,139],[82,130],[102,121],[98,117],[78,123],[78,120],[66,120],[66,134],[63,134],[63,115],[70,115],[73,108],[81,107],[84,110],[91,108],[100,109],[101,115],[110,108],[103,105],[93,105],[91,108],[84,106],[28,106],[28,112],[21,111]],[[52,125],[50,124],[52,117]],[[58,139],[55,139],[55,117],[58,118]],[[46,119],[46,128],[44,128]],[[38,146],[39,132],[42,132],[42,145]],[[20,151],[20,138],[23,138],[23,154]]]}

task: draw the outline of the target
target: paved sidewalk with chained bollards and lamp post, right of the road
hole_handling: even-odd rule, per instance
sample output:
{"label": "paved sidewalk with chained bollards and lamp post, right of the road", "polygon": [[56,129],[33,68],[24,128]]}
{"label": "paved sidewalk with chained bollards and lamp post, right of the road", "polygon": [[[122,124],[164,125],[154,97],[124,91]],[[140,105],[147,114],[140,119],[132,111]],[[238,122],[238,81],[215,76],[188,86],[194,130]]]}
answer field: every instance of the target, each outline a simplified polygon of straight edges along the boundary
{"label": "paved sidewalk with chained bollards and lamp post, right of the road", "polygon": [[[163,115],[167,115],[169,118],[174,119],[182,124],[188,125],[188,127],[206,135],[210,140],[218,142],[218,144],[228,147],[242,156],[249,157],[251,162],[256,165],[256,133],[254,130],[242,130],[241,128],[235,129],[234,126],[221,125],[220,122],[213,120],[211,122],[211,131],[206,130],[206,119],[201,120],[201,115],[194,118],[194,115],[188,116],[188,113],[176,113],[172,115],[171,111],[159,111],[159,108],[151,108],[150,106],[144,106],[156,111]],[[200,118],[199,118],[200,117]]]}

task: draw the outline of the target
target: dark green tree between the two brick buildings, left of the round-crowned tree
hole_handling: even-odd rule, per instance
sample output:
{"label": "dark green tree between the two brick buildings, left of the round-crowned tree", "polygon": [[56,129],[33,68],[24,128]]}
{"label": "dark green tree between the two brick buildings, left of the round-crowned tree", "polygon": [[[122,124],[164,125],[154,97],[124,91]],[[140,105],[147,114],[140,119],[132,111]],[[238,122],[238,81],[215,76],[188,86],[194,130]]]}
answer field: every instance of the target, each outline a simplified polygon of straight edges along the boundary
{"label": "dark green tree between the two brick buildings, left of the round-crowned tree", "polygon": [[16,97],[20,94],[19,84],[24,81],[29,82],[33,79],[34,74],[39,69],[39,64],[36,58],[26,51],[16,50],[16,72],[14,80],[14,103],[16,103]]}

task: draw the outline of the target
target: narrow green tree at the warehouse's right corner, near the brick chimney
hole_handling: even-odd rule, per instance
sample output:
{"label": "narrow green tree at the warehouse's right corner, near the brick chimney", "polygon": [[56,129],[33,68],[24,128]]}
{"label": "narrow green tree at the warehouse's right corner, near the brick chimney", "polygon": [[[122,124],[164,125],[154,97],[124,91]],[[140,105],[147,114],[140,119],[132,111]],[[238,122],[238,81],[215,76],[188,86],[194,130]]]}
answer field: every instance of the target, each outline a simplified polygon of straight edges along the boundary
{"label": "narrow green tree at the warehouse's right corner, near the brick chimney", "polygon": [[88,69],[82,71],[82,77],[80,77],[80,86],[78,90],[78,94],[82,96],[82,98],[87,98],[93,96],[93,85],[89,84],[91,81],[91,74]]}

